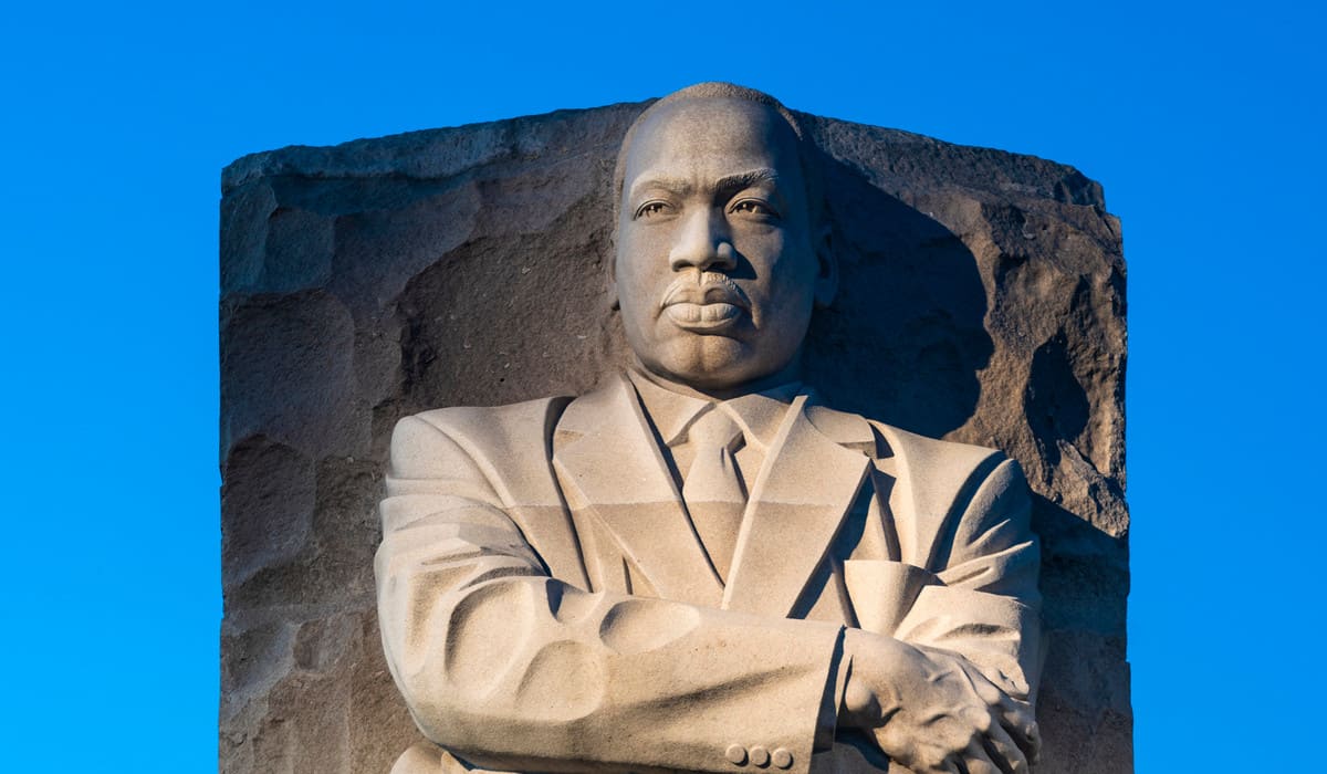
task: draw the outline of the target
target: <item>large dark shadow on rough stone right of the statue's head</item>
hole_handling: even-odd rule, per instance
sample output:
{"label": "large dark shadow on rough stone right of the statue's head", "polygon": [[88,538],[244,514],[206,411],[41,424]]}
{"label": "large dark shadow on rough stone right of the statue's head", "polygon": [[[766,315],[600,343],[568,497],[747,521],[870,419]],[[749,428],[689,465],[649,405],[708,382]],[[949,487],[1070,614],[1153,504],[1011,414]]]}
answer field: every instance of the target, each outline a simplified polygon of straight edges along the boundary
{"label": "large dark shadow on rough stone right of the statue's head", "polygon": [[977,409],[993,352],[977,259],[848,165],[824,171],[840,285],[812,321],[808,381],[837,409],[942,437]]}

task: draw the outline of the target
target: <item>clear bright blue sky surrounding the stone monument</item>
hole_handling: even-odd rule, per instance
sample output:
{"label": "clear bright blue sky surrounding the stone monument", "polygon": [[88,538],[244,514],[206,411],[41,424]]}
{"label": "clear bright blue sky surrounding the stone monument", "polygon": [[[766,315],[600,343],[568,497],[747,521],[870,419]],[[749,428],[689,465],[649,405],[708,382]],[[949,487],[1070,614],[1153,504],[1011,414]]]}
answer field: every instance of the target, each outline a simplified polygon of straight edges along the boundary
{"label": "clear bright blue sky surrounding the stone monument", "polygon": [[1105,186],[1129,263],[1137,769],[1316,765],[1310,4],[37,5],[0,23],[8,770],[215,771],[226,163],[702,80]]}

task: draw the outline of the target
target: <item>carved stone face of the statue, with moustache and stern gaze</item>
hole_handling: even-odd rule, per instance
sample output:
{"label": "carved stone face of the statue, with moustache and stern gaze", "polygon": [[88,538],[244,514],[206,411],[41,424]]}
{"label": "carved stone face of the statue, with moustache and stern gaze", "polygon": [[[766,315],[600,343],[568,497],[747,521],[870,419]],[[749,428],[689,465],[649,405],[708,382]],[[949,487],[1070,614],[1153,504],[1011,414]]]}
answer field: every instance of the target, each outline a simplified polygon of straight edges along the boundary
{"label": "carved stone face of the statue, with moustache and stern gaze", "polygon": [[614,276],[626,340],[702,390],[795,378],[816,301],[833,295],[796,135],[771,108],[665,105],[628,151]]}

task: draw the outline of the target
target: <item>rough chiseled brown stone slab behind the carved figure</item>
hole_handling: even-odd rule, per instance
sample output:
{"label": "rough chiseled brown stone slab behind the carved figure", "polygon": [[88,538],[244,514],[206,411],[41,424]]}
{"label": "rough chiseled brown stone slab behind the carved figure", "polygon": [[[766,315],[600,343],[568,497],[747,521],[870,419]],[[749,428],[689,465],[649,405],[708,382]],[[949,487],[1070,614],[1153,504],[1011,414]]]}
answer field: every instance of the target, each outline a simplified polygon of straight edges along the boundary
{"label": "rough chiseled brown stone slab behind the carved figure", "polygon": [[[609,187],[642,109],[223,173],[222,771],[382,773],[418,738],[373,596],[391,427],[584,393],[625,361]],[[1119,222],[1071,167],[804,119],[843,271],[808,380],[836,408],[1022,463],[1043,539],[1036,770],[1131,771]]]}

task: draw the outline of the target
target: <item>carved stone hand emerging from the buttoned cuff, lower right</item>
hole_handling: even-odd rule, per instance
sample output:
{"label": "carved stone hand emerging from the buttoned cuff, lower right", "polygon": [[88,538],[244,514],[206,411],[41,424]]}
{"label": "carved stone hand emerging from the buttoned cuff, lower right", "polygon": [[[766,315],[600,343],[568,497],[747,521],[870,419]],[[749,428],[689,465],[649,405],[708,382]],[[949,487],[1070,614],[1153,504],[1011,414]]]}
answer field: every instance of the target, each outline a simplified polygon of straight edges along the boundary
{"label": "carved stone hand emerging from the buttoned cuff, lower right", "polygon": [[1024,773],[1036,757],[1031,706],[963,657],[848,629],[849,657],[839,722],[916,774]]}

